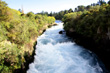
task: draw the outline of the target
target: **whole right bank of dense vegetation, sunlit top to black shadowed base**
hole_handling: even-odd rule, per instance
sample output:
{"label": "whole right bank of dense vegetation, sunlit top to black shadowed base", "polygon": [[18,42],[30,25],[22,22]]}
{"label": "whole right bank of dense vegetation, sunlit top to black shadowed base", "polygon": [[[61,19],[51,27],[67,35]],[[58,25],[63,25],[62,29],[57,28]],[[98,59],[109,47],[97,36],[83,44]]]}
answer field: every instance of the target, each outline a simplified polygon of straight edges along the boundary
{"label": "whole right bank of dense vegetation, sunlit top to black shadowed base", "polygon": [[77,44],[95,52],[110,71],[110,1],[82,6],[81,11],[65,14],[62,21],[67,34]]}

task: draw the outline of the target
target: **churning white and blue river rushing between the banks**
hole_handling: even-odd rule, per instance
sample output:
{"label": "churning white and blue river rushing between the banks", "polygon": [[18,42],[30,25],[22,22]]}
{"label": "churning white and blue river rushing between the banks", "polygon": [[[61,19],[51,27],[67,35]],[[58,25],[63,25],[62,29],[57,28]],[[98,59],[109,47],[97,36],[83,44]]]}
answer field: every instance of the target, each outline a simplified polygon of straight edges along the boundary
{"label": "churning white and blue river rushing between the banks", "polygon": [[92,52],[59,34],[63,23],[56,23],[38,37],[35,60],[27,73],[106,73]]}

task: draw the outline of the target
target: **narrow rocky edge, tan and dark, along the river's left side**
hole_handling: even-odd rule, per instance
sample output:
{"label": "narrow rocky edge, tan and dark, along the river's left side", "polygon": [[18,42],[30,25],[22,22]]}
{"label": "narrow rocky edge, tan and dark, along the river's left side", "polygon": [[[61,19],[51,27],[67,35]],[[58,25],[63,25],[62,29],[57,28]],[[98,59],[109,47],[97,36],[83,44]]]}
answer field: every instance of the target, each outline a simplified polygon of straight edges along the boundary
{"label": "narrow rocky edge, tan and dark, along the river's left side", "polygon": [[[42,30],[40,30],[39,34],[42,35],[45,32],[46,29],[51,28],[52,26],[56,26],[56,25],[57,25],[57,23],[47,24],[46,26],[43,27]],[[34,38],[32,40],[32,42],[30,42],[31,46],[29,46],[29,44],[27,45],[27,48],[31,48],[30,51],[31,51],[32,54],[28,54],[28,55],[24,56],[25,62],[21,65],[20,69],[14,70],[14,73],[26,73],[26,71],[29,69],[29,64],[34,61],[34,56],[36,55],[35,54],[36,45],[37,45],[37,40],[36,39],[37,39],[37,37]]]}

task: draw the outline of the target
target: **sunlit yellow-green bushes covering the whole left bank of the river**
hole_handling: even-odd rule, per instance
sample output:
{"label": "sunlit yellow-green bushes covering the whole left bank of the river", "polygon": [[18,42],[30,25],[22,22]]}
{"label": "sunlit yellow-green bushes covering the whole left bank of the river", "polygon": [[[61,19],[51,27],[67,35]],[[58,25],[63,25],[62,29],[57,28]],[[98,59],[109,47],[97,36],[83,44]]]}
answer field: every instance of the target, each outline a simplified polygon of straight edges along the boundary
{"label": "sunlit yellow-green bushes covering the whole left bank of the river", "polygon": [[0,73],[13,73],[32,55],[33,43],[54,17],[20,13],[0,0]]}

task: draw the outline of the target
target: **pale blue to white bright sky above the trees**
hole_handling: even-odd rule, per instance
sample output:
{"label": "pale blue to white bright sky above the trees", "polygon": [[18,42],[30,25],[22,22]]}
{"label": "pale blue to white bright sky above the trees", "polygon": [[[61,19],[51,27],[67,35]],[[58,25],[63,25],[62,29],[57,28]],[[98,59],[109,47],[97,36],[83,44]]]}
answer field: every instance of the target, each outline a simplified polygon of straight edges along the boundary
{"label": "pale blue to white bright sky above the trees", "polygon": [[[12,9],[22,9],[24,13],[34,12],[39,13],[42,11],[59,12],[61,10],[68,10],[79,5],[90,5],[97,3],[99,0],[2,0],[5,1]],[[106,2],[109,0],[105,0]]]}

